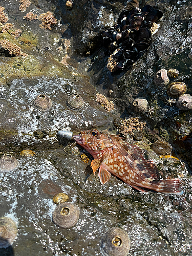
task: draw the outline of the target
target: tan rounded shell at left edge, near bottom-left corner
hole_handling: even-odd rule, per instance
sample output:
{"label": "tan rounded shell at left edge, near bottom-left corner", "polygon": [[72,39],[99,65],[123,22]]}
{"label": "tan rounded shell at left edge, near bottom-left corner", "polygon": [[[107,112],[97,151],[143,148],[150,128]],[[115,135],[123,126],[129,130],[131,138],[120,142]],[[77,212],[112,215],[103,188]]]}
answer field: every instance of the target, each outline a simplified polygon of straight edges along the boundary
{"label": "tan rounded shell at left edge, near bottom-left corner", "polygon": [[17,235],[17,225],[9,217],[0,218],[0,248],[7,248],[13,244]]}

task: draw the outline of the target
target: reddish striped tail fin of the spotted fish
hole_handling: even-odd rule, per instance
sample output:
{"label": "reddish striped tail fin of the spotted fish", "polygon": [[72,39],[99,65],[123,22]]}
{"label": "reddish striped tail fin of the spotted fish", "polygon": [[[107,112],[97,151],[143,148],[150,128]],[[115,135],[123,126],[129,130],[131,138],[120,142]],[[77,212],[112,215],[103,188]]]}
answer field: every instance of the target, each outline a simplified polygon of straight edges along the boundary
{"label": "reddish striped tail fin of the spotted fish", "polygon": [[182,195],[182,183],[180,179],[168,179],[168,180],[160,180],[158,189],[156,190],[161,193],[174,194],[174,195]]}

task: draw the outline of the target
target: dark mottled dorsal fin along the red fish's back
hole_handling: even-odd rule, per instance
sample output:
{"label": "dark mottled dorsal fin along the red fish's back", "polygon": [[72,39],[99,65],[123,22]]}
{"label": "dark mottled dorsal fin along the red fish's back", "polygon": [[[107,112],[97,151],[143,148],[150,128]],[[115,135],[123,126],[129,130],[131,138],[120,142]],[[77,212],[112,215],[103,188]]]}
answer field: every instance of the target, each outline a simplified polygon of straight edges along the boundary
{"label": "dark mottled dorsal fin along the red fish's back", "polygon": [[146,178],[152,178],[153,180],[159,180],[159,170],[157,166],[150,160],[146,160],[141,148],[132,144],[125,144],[124,149],[135,160],[137,169],[144,174]]}

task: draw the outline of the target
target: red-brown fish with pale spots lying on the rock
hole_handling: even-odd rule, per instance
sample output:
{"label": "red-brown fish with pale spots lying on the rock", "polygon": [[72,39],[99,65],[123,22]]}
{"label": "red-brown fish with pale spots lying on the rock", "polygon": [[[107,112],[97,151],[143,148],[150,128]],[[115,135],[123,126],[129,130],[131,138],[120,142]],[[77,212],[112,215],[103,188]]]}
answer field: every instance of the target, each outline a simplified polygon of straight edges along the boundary
{"label": "red-brown fish with pale spots lying on the rock", "polygon": [[123,141],[121,137],[94,129],[82,131],[73,138],[94,157],[91,167],[94,175],[99,168],[101,184],[108,182],[112,174],[142,192],[183,194],[180,179],[161,180],[157,166],[144,158],[138,146]]}

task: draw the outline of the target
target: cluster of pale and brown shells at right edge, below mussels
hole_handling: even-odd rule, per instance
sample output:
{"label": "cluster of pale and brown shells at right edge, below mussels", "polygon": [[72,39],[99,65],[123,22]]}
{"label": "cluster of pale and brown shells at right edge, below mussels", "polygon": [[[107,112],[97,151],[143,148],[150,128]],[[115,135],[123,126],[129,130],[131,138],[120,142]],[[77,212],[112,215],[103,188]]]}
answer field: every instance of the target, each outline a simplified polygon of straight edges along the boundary
{"label": "cluster of pale and brown shells at right edge, below mussels", "polygon": [[167,105],[176,104],[180,110],[191,110],[192,96],[185,94],[187,90],[186,84],[180,81],[169,83],[169,78],[176,78],[178,75],[179,71],[176,69],[169,69],[168,71],[161,69],[155,74],[154,83],[159,87],[164,87],[168,84],[167,95],[169,99],[166,99]]}

